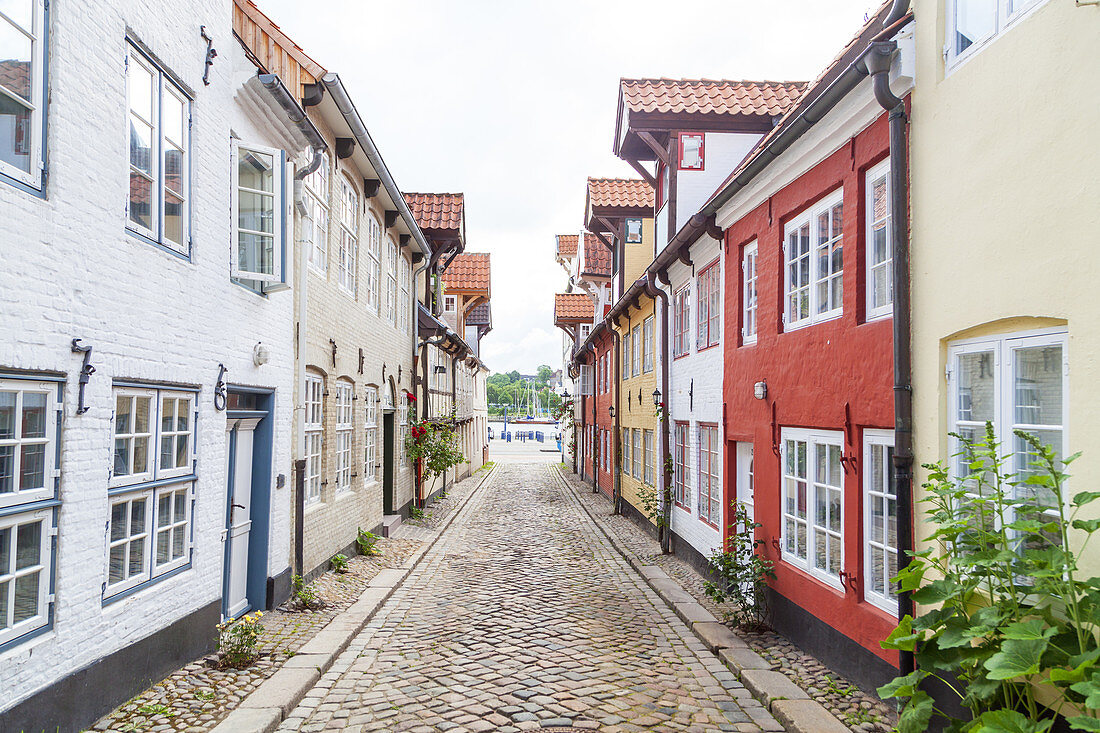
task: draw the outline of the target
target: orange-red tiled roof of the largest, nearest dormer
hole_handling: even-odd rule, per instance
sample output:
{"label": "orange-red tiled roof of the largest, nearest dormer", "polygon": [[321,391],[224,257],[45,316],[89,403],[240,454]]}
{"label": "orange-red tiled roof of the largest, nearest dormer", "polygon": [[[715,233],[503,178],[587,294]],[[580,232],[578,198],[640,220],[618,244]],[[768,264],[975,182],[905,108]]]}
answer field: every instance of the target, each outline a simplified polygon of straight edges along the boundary
{"label": "orange-red tiled roof of the largest, nearest dormer", "polygon": [[782,114],[805,89],[805,81],[619,79],[628,110],[668,114]]}

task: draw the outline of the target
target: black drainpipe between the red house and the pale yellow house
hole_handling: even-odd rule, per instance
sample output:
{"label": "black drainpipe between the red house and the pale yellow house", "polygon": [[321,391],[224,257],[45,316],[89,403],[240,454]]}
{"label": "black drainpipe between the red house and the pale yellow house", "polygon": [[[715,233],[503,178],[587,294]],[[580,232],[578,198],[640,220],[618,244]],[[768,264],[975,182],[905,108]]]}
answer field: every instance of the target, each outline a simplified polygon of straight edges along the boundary
{"label": "black drainpipe between the red house and the pale yellow house", "polygon": [[[906,2],[895,2],[891,18]],[[900,15],[899,15],[900,18]],[[913,347],[909,274],[909,119],[905,102],[890,90],[890,66],[898,54],[894,41],[870,44],[864,56],[875,85],[875,98],[890,112],[890,237],[893,243],[893,362],[894,362],[894,491],[898,495],[899,568],[909,565],[913,550]],[[913,614],[908,591],[898,593],[898,617]],[[899,671],[913,671],[912,652],[899,653]]]}

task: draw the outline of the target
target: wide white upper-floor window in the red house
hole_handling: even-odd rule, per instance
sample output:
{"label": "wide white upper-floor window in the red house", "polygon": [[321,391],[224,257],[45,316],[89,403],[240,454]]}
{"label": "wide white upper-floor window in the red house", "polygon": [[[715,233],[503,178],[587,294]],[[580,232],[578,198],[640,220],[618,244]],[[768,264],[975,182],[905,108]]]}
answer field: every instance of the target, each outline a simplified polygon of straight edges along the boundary
{"label": "wide white upper-floor window in the red house", "polygon": [[844,302],[844,190],[787,225],[783,318],[798,328],[840,315]]}

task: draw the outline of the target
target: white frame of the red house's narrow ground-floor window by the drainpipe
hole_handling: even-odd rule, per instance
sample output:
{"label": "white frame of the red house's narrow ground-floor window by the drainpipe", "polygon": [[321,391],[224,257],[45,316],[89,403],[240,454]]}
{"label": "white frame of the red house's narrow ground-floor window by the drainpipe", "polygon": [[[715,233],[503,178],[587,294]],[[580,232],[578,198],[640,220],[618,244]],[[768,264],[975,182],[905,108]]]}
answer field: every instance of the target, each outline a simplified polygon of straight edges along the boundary
{"label": "white frame of the red house's narrow ground-floor window by the drainpipe", "polygon": [[[892,592],[894,584],[890,582],[890,579],[897,573],[890,572],[889,558],[891,555],[894,558],[898,557],[898,538],[894,537],[894,541],[891,544],[887,532],[890,525],[889,507],[891,503],[893,505],[894,526],[897,527],[898,524],[897,489],[894,490],[894,493],[890,492],[890,484],[893,478],[893,461],[890,460],[890,456],[893,453],[893,430],[864,430],[864,600],[879,606],[883,611],[897,614],[898,595],[895,592]],[[876,475],[875,461],[871,460],[871,455],[876,448],[883,451],[882,473],[880,475]],[[881,540],[873,539],[876,521],[872,512],[872,504],[876,499],[882,502],[882,521],[886,523],[881,527]],[[876,553],[881,553],[883,558],[882,578],[884,587],[881,589],[871,588],[871,578],[875,577],[872,570],[875,568]],[[897,566],[898,561],[895,559],[894,567]]]}

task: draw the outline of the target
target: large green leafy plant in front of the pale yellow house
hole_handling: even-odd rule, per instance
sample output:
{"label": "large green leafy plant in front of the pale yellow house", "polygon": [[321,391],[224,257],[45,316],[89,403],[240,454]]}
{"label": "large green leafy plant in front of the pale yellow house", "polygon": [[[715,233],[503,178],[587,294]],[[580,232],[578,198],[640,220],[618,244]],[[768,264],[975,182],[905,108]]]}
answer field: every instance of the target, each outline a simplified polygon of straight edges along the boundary
{"label": "large green leafy plant in front of the pale yellow house", "polygon": [[[1069,499],[1064,469],[1077,455],[1059,459],[1032,435],[1015,433],[1018,455],[1031,458],[1015,474],[991,425],[981,440],[955,437],[967,475],[926,467],[935,530],[897,578],[926,611],[904,616],[882,643],[913,652],[917,668],[879,694],[905,700],[901,733],[926,730],[933,716],[950,731],[1041,733],[1055,714],[1072,730],[1100,731],[1100,578],[1078,569],[1100,528],[1079,515],[1100,492]],[[921,689],[928,678],[943,680],[972,720],[936,707]]]}

